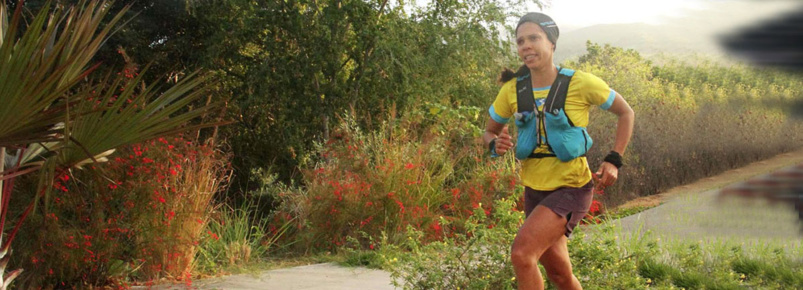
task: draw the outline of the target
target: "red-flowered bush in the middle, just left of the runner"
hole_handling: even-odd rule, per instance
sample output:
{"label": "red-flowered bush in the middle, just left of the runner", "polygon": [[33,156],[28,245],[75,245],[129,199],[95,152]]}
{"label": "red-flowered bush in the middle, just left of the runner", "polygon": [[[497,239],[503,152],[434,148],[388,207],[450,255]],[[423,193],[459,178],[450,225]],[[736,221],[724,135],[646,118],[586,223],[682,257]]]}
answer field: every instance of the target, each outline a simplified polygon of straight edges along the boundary
{"label": "red-flowered bush in the middle, just left of the runner", "polygon": [[331,249],[353,238],[370,248],[371,238],[383,232],[391,242],[402,241],[408,225],[438,240],[459,232],[474,209],[490,213],[493,201],[513,190],[512,163],[482,158],[476,127],[449,118],[457,115],[430,112],[428,126],[419,126],[415,115],[372,133],[342,123],[321,145],[315,168],[305,172],[306,188],[278,197],[279,224],[297,219],[297,246]]}

